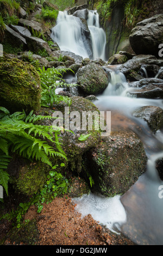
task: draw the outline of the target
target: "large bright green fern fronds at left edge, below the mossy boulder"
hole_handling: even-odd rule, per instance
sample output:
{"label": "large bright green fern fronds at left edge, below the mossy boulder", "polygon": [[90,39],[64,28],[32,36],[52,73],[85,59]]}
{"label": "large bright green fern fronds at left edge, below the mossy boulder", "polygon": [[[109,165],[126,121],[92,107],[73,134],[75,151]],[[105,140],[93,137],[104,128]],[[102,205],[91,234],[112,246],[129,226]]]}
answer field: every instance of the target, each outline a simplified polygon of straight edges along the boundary
{"label": "large bright green fern fronds at left edge, below the mossy boulder", "polygon": [[[36,125],[35,122],[45,118],[51,119],[51,116],[35,115],[33,111],[26,115],[23,112],[10,114],[9,111],[0,107],[0,185],[2,185],[8,194],[9,175],[4,169],[7,169],[11,152],[28,159],[41,160],[52,167],[49,157],[63,157],[66,159],[58,141],[59,130],[53,130],[52,126]],[[53,134],[55,133],[55,136]],[[42,138],[56,145],[58,151],[55,151]]]}

